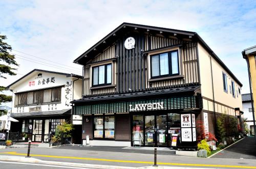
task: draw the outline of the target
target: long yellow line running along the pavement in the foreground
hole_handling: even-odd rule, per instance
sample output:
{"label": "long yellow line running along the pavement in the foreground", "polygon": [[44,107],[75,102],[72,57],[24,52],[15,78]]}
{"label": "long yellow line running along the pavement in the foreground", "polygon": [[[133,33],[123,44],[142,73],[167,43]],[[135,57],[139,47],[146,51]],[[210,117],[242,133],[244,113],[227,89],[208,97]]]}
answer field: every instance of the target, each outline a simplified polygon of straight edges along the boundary
{"label": "long yellow line running along the pavement in the foreground", "polygon": [[[27,155],[24,153],[16,152],[4,152],[0,154],[12,154],[12,155]],[[87,157],[69,157],[69,156],[53,156],[53,155],[41,155],[41,154],[30,154],[33,157],[51,157],[51,158],[68,158],[68,159],[82,159],[82,160],[94,160],[94,161],[109,161],[109,162],[124,162],[124,163],[144,163],[154,164],[151,161],[133,161],[133,160],[114,160],[114,159],[102,159],[102,158],[87,158]],[[229,168],[256,168],[256,166],[242,166],[242,165],[220,165],[220,164],[186,164],[186,163],[171,163],[171,162],[158,162],[157,164],[162,165],[182,165],[182,166],[208,166],[208,167],[229,167]]]}

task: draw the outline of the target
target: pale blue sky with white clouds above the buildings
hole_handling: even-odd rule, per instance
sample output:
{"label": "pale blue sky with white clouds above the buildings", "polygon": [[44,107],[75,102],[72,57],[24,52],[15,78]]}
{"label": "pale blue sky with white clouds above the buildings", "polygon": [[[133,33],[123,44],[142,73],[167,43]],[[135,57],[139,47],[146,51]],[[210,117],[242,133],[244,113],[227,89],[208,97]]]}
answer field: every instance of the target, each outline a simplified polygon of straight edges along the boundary
{"label": "pale blue sky with white clouds above the buildings", "polygon": [[35,68],[81,74],[73,60],[122,22],[132,22],[197,32],[243,83],[242,93],[249,92],[241,51],[256,45],[255,1],[0,0],[0,13],[0,33],[20,64],[0,86]]}

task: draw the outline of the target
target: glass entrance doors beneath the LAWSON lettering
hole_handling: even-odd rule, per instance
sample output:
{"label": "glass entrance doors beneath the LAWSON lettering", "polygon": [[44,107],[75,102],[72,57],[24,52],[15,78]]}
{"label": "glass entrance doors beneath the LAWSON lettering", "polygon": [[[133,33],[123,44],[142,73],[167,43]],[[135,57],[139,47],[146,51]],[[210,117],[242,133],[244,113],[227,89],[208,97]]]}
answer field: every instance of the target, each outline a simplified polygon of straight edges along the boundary
{"label": "glass entrance doors beneath the LAWSON lettering", "polygon": [[145,116],[145,146],[167,147],[166,115]]}

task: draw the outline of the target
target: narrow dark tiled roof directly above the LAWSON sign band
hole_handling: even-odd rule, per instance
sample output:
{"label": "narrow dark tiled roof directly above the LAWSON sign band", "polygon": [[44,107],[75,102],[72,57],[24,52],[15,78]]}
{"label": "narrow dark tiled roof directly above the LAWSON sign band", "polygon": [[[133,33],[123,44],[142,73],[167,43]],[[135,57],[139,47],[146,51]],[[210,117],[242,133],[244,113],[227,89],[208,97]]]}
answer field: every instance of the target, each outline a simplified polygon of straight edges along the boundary
{"label": "narrow dark tiled roof directly above the LAWSON sign band", "polygon": [[199,86],[187,86],[180,88],[170,88],[170,89],[159,89],[159,90],[148,90],[143,92],[133,92],[133,93],[124,93],[124,94],[109,94],[109,95],[99,95],[99,96],[91,96],[91,97],[83,97],[82,99],[74,100],[72,103],[77,102],[90,102],[90,101],[101,101],[101,100],[115,100],[115,99],[130,99],[136,97],[152,97],[157,95],[165,95],[165,94],[177,94],[177,93],[185,93],[185,92],[194,92]]}

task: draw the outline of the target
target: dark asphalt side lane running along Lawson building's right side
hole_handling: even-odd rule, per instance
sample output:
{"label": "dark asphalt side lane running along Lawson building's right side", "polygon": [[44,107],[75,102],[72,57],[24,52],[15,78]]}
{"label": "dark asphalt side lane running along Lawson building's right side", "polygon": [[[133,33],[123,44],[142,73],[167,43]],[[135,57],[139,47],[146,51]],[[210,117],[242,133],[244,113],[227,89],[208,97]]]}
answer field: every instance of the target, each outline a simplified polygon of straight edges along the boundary
{"label": "dark asphalt side lane running along Lawson building's right side", "polygon": [[240,142],[211,156],[211,158],[254,159],[256,160],[255,138],[247,136]]}

